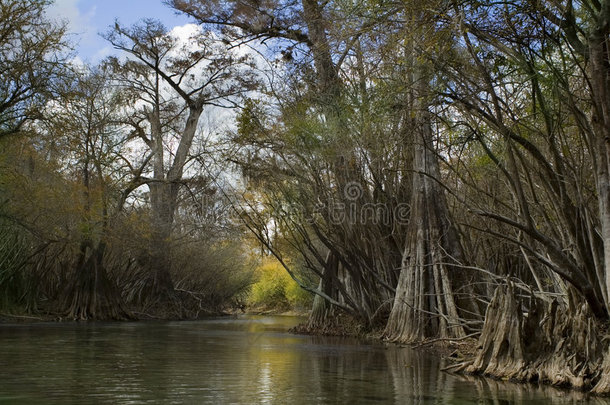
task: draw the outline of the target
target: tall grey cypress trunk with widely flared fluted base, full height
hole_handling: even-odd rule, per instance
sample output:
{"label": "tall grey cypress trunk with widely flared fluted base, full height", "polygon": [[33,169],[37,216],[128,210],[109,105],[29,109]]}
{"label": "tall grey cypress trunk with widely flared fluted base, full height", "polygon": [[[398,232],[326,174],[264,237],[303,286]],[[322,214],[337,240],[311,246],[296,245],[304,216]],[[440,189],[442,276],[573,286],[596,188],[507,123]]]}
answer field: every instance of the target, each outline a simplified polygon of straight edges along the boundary
{"label": "tall grey cypress trunk with widely flared fluted base, full height", "polygon": [[[428,32],[422,29],[425,12],[407,10],[405,24],[407,65],[405,95],[407,128],[413,147],[411,210],[394,304],[384,336],[388,340],[417,342],[427,338],[466,336],[463,314],[458,309],[455,287],[460,282],[461,306],[471,313],[478,308],[471,288],[461,274],[463,253],[457,229],[450,219],[441,185],[439,158],[430,111],[433,67],[418,50]],[[431,27],[423,27],[431,29]],[[472,315],[470,315],[472,316]],[[469,316],[469,317],[470,317]]]}

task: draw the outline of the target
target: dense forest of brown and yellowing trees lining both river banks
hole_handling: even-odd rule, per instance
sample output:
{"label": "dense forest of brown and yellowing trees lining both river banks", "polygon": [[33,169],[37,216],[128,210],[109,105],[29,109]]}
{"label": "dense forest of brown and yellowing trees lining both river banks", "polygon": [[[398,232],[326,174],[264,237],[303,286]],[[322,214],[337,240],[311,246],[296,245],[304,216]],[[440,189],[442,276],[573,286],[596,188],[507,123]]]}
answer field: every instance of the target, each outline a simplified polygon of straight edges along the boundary
{"label": "dense forest of brown and yellowing trees lining both river banks", "polygon": [[610,0],[165,3],[89,65],[0,0],[2,316],[281,301],[610,394]]}

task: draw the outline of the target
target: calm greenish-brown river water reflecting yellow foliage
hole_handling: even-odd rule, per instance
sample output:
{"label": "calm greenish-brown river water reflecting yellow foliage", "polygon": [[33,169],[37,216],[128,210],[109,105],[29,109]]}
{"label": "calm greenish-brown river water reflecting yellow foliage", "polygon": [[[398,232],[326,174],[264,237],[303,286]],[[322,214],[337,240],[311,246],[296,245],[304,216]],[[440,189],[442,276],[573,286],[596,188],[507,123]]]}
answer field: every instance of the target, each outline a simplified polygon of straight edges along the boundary
{"label": "calm greenish-brown river water reflecting yellow foliage", "polygon": [[609,404],[439,371],[438,356],[293,335],[299,318],[0,325],[0,404]]}

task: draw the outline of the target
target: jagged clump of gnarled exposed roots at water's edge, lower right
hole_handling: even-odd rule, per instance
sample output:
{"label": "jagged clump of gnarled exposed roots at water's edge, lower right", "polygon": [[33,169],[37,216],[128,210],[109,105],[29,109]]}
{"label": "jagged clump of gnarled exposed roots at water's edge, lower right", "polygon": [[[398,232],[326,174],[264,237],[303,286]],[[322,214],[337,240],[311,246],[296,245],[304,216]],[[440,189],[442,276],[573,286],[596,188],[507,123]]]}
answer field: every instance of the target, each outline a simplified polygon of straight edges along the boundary
{"label": "jagged clump of gnarled exposed roots at water's edge, lower right", "polygon": [[582,300],[532,297],[529,313],[522,307],[510,283],[498,287],[472,364],[454,371],[610,394],[610,352]]}

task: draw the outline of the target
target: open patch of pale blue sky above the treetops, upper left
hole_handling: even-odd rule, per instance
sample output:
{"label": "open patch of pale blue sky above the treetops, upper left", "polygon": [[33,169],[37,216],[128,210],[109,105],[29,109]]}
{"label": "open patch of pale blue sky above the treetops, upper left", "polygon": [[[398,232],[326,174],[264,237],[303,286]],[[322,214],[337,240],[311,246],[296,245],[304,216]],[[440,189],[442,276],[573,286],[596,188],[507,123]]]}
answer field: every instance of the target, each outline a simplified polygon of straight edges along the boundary
{"label": "open patch of pale blue sky above the treetops, upper left", "polygon": [[72,39],[78,44],[78,57],[91,63],[114,53],[99,33],[107,31],[117,18],[124,25],[156,18],[170,29],[192,22],[184,15],[176,15],[162,0],[55,0],[48,14],[69,22],[70,31],[75,34]]}

